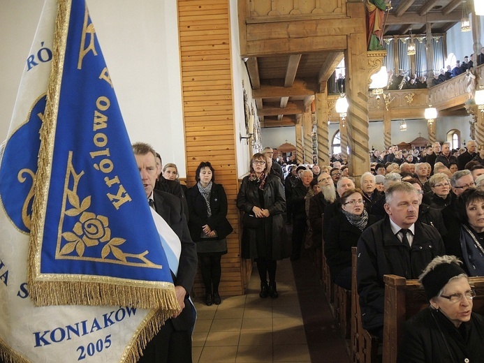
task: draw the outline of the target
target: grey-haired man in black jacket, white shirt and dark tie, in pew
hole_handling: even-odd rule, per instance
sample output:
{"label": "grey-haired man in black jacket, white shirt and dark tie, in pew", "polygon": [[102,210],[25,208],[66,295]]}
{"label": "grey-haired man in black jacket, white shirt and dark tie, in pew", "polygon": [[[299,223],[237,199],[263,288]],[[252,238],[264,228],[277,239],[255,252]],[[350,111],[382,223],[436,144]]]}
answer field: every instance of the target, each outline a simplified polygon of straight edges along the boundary
{"label": "grey-haired man in black jacket, white shirt and dark tie, in pew", "polygon": [[362,232],[358,240],[356,283],[362,326],[383,339],[383,275],[417,279],[427,264],[444,254],[437,229],[418,221],[418,194],[406,182],[386,191],[387,216]]}

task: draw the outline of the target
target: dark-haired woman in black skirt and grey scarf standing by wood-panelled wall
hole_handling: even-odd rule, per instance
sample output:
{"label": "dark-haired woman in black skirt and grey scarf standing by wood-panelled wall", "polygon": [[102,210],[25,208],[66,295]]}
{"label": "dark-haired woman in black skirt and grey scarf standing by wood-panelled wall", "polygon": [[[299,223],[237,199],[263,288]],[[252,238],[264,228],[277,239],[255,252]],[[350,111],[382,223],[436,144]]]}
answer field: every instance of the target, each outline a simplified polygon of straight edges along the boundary
{"label": "dark-haired woman in black skirt and grey scarf standing by wood-panelled wall", "polygon": [[219,295],[221,255],[227,253],[226,236],[233,231],[226,218],[227,196],[223,186],[214,183],[215,171],[210,162],[198,165],[195,179],[197,184],[186,196],[190,235],[200,258],[205,304],[219,305],[222,301]]}

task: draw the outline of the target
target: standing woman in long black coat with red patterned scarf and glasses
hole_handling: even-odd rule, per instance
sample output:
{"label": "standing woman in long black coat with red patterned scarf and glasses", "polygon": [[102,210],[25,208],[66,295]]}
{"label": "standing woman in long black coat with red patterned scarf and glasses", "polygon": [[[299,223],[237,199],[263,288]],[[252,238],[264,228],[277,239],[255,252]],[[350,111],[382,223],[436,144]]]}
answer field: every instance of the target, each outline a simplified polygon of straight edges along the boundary
{"label": "standing woman in long black coat with red patterned scarf and glasses", "polygon": [[[259,296],[275,299],[277,260],[291,255],[286,225],[282,214],[286,198],[281,179],[270,175],[263,154],[254,154],[250,174],[242,179],[237,195],[237,207],[242,218],[242,258],[255,260],[261,278]],[[267,283],[267,275],[269,283]]]}

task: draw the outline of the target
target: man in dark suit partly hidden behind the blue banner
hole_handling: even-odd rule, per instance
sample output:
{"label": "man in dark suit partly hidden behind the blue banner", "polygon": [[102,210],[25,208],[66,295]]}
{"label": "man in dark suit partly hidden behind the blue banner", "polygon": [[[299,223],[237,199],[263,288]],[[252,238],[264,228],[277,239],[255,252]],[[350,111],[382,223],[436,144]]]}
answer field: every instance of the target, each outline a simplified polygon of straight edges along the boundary
{"label": "man in dark suit partly hidden behind the blue banner", "polygon": [[160,331],[149,341],[139,362],[187,362],[191,363],[191,332],[195,325],[195,311],[189,301],[197,268],[196,245],[191,240],[182,200],[162,191],[154,190],[156,183],[156,152],[142,142],[133,144],[136,164],[147,201],[156,213],[168,223],[181,244],[177,274],[173,273],[175,294],[180,310],[166,320]]}

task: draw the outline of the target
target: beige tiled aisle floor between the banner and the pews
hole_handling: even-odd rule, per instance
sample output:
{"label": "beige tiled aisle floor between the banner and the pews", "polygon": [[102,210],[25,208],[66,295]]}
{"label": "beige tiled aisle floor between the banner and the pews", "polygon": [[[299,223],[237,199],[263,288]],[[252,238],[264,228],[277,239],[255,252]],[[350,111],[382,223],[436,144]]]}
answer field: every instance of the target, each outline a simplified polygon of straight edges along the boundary
{"label": "beige tiled aisle floor between the banner and the pews", "polygon": [[246,295],[225,297],[219,306],[196,300],[193,362],[349,362],[310,266],[304,257],[279,261],[277,299],[259,297],[254,267]]}

